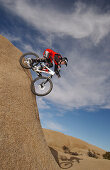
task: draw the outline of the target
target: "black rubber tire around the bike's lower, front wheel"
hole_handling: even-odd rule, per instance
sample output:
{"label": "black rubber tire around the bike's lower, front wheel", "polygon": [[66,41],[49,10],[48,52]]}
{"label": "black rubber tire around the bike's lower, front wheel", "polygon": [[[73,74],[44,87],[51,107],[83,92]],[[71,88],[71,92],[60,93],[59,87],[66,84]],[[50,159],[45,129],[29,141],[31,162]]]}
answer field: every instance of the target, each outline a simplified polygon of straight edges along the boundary
{"label": "black rubber tire around the bike's lower, front wheel", "polygon": [[52,81],[50,80],[50,79],[48,79],[48,82],[49,82],[49,84],[50,84],[50,88],[49,88],[49,90],[46,92],[46,93],[43,93],[43,94],[40,94],[40,93],[37,93],[36,91],[35,91],[35,87],[34,87],[34,83],[36,82],[36,81],[38,81],[39,79],[48,79],[48,77],[37,77],[36,79],[34,79],[33,81],[31,81],[31,91],[32,91],[32,93],[34,94],[34,95],[37,95],[37,96],[46,96],[47,94],[49,94],[51,91],[52,91],[52,88],[53,88],[53,83],[52,83]]}

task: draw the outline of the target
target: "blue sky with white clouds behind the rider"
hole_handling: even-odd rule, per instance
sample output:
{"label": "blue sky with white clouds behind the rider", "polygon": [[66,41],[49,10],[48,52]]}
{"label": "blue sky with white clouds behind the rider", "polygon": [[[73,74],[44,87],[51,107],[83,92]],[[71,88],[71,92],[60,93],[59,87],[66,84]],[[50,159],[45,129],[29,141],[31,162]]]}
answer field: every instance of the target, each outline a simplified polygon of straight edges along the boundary
{"label": "blue sky with white clouds behind the rider", "polygon": [[[110,2],[0,0],[0,34],[23,53],[46,48],[69,59],[46,97],[42,127],[110,151]],[[33,78],[36,77],[32,73]]]}

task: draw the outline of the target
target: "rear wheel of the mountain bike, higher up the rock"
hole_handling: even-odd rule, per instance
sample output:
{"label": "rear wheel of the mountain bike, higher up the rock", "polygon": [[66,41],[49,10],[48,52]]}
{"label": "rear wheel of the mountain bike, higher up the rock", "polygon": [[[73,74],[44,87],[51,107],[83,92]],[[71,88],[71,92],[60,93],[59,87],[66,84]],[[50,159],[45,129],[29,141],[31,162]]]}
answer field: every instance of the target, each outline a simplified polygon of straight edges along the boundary
{"label": "rear wheel of the mountain bike, higher up the rock", "polygon": [[29,59],[38,59],[39,56],[36,54],[36,53],[32,53],[32,52],[29,52],[29,53],[24,53],[20,59],[19,59],[19,62],[20,62],[20,65],[23,67],[23,68],[26,68],[26,69],[31,69],[32,66],[29,64]]}

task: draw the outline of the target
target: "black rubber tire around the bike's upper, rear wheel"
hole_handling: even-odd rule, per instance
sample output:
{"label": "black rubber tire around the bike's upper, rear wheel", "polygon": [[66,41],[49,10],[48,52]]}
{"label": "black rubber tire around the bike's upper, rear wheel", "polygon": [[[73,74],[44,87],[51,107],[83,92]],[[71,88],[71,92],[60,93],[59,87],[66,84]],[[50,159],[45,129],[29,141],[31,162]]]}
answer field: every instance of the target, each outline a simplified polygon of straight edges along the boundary
{"label": "black rubber tire around the bike's upper, rear wheel", "polygon": [[23,64],[23,59],[24,59],[24,57],[26,57],[27,55],[33,55],[33,56],[36,57],[36,59],[38,59],[39,56],[38,56],[36,53],[28,52],[28,53],[24,53],[24,54],[20,57],[20,59],[19,59],[20,65],[21,65],[23,68],[31,69],[32,66],[29,67],[28,65],[25,66],[25,65]]}

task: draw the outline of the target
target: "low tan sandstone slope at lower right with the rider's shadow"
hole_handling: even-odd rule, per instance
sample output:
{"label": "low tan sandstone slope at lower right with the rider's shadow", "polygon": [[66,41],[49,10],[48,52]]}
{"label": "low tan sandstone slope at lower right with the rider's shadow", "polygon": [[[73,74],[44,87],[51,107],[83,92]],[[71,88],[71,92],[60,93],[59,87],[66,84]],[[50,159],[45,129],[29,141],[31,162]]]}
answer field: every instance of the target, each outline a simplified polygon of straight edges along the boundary
{"label": "low tan sandstone slope at lower right with the rider's shadow", "polygon": [[[43,132],[56,162],[62,168],[65,167],[68,170],[110,170],[110,160],[105,160],[102,156],[106,152],[105,150],[57,131],[43,129]],[[64,150],[63,146],[66,146],[69,151]],[[88,156],[89,150],[93,155],[95,153],[97,159]]]}

